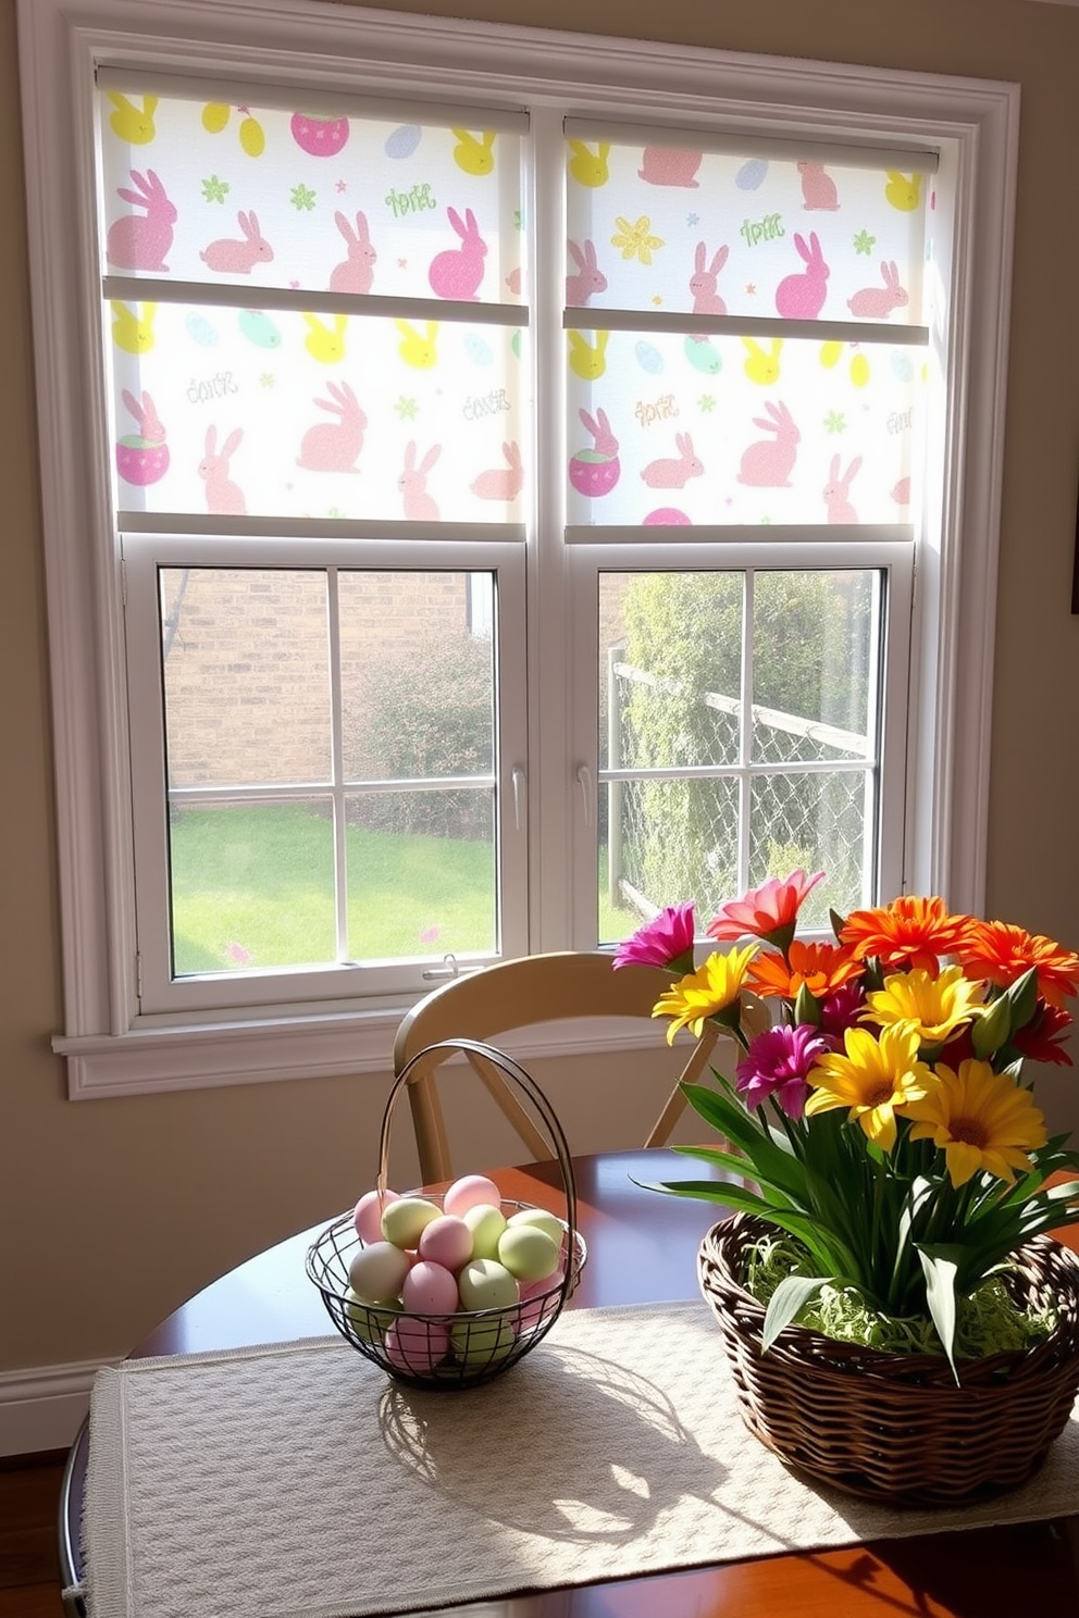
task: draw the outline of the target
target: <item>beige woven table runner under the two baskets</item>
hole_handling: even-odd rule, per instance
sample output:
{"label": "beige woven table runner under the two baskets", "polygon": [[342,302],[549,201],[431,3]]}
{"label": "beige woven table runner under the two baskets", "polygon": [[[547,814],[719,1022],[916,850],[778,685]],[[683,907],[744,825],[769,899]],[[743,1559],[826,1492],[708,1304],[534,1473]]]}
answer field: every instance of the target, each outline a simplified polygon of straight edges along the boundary
{"label": "beige woven table runner under the two baskets", "polygon": [[961,1510],[796,1479],[743,1427],[702,1302],[571,1309],[508,1374],[427,1391],[341,1338],[99,1372],[91,1618],[359,1618],[1061,1516],[1079,1421]]}

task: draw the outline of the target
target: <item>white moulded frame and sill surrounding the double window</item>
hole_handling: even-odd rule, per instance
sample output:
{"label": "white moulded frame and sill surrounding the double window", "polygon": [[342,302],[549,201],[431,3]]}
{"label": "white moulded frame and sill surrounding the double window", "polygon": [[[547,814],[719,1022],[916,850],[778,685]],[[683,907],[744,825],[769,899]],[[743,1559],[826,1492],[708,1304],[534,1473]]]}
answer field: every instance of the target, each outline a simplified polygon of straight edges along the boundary
{"label": "white moulded frame and sill surrounding the double window", "polygon": [[[71,1097],[385,1073],[401,1014],[400,1003],[387,1003],[332,1013],[275,1006],[225,1021],[136,1016],[123,623],[100,455],[107,408],[87,341],[99,319],[91,256],[94,154],[76,142],[76,131],[91,126],[91,66],[99,60],[138,63],[150,52],[167,70],[204,68],[218,78],[249,74],[257,60],[260,74],[288,83],[290,65],[303,57],[328,87],[393,81],[443,99],[440,87],[459,78],[469,94],[479,86],[495,102],[532,105],[537,116],[555,102],[637,121],[721,110],[788,138],[806,128],[820,134],[823,126],[835,139],[940,147],[941,176],[956,199],[954,256],[940,265],[953,309],[943,379],[950,409],[948,442],[935,445],[940,466],[927,477],[940,490],[940,510],[925,523],[938,544],[920,549],[914,592],[904,887],[945,893],[956,909],[982,908],[1016,84],[314,0],[18,0],[18,34],[65,981],[65,1027],[53,1048],[68,1060]],[[537,233],[544,233],[542,218]],[[552,270],[547,296],[555,290]],[[537,422],[540,445],[556,443],[560,427],[552,401]],[[568,555],[542,565],[529,558],[531,613],[550,582],[545,570],[571,565]],[[566,917],[574,890],[581,892],[579,838],[569,832],[582,794],[565,767],[579,746],[568,701],[578,641],[569,623],[529,637],[529,689],[542,683],[547,712],[556,715],[547,726],[540,769],[532,770],[531,846],[539,856],[531,877],[532,948],[579,943],[568,937]],[[552,769],[552,759],[563,767]]]}

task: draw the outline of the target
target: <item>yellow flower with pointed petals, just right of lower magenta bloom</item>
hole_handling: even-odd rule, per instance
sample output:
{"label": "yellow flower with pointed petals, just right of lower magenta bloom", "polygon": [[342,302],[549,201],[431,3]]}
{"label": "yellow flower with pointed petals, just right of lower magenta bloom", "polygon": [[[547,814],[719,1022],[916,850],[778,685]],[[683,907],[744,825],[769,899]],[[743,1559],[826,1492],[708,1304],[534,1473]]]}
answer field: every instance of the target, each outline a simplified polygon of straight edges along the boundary
{"label": "yellow flower with pointed petals, just right of lower magenta bloom", "polygon": [[814,1092],[806,1113],[848,1107],[851,1123],[857,1120],[870,1141],[883,1152],[896,1144],[896,1112],[925,1095],[933,1071],[917,1060],[919,1034],[909,1023],[896,1023],[880,1031],[880,1039],[864,1027],[848,1027],[838,1050],[819,1057],[807,1079]]}

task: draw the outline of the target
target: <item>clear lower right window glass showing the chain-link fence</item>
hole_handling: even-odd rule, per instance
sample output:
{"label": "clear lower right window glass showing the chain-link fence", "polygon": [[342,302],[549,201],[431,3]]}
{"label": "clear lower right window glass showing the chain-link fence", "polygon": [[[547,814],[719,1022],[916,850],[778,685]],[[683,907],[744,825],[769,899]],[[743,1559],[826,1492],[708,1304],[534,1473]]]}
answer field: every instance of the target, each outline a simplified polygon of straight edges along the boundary
{"label": "clear lower right window glass showing the chain-link fence", "polygon": [[877,570],[600,576],[600,937],[799,866],[807,925],[865,901],[882,636]]}

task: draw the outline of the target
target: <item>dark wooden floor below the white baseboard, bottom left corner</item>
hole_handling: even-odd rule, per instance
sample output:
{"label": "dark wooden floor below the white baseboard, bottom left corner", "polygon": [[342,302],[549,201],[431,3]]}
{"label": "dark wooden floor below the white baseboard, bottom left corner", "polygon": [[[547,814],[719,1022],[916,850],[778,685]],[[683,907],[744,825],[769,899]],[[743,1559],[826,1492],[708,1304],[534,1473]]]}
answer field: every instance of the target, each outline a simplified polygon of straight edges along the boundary
{"label": "dark wooden floor below the white baseboard, bottom left corner", "polygon": [[65,1455],[0,1458],[0,1618],[63,1618],[57,1505]]}

